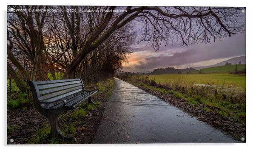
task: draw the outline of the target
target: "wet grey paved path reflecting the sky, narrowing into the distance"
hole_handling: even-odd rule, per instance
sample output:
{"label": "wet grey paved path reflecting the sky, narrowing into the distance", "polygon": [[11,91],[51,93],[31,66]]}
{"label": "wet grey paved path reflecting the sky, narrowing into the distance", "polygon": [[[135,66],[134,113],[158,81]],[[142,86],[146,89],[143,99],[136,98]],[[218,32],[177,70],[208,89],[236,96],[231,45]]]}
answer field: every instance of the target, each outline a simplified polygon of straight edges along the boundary
{"label": "wet grey paved path reflecting the sky, narrowing into the distance", "polygon": [[92,143],[236,142],[118,78],[103,115]]}

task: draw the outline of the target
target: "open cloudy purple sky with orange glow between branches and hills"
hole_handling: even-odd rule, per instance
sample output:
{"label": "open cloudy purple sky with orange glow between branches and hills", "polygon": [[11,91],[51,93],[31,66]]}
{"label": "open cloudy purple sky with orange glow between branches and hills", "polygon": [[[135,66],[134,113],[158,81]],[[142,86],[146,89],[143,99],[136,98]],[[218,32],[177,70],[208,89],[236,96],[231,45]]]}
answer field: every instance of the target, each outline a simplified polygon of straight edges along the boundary
{"label": "open cloudy purple sky with orange glow between branches and hills", "polygon": [[245,55],[245,33],[219,39],[211,44],[169,44],[155,51],[150,46],[139,43],[132,46],[133,53],[122,71],[148,72],[160,67],[199,67]]}

